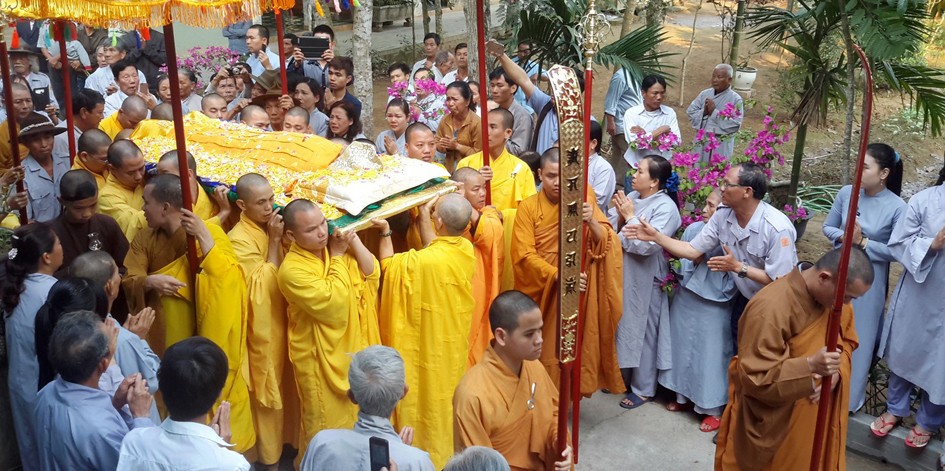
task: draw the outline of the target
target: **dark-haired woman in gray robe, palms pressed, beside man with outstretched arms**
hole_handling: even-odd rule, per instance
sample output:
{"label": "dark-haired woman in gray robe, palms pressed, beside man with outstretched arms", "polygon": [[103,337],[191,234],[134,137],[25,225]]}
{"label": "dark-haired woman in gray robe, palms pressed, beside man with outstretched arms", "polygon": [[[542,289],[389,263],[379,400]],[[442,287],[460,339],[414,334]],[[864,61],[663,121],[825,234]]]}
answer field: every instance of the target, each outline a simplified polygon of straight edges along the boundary
{"label": "dark-haired woman in gray robe, palms pressed, beside man with outstretched arms", "polygon": [[614,195],[618,227],[625,229],[619,236],[624,297],[623,317],[617,325],[617,363],[624,381],[629,383],[627,396],[620,401],[625,409],[650,401],[656,394],[658,370],[672,367],[669,300],[661,288],[669,264],[659,245],[630,239],[626,229],[644,219],[666,235],[675,234],[682,223],[675,198],[676,182],[678,177],[666,159],[648,156],[633,175],[634,191],[626,196],[619,192]]}

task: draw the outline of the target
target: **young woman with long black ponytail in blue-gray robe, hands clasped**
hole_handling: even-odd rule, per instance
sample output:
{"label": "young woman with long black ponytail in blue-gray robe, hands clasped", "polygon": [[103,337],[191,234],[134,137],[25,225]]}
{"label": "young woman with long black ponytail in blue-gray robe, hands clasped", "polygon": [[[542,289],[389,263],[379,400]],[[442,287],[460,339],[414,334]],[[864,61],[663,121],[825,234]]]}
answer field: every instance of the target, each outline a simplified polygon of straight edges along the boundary
{"label": "young woman with long black ponytail in blue-gray robe, hands clasped", "polygon": [[852,230],[853,243],[866,250],[876,274],[870,290],[853,300],[856,335],[860,339],[859,348],[853,352],[853,375],[850,380],[850,412],[855,412],[866,400],[866,383],[875,363],[876,339],[883,325],[889,263],[895,261],[886,243],[906,207],[899,197],[902,190],[902,160],[899,153],[886,144],[873,143],[867,146],[857,217],[851,224],[846,218],[852,190],[851,185],[840,189],[823,228],[824,235],[833,242],[834,247],[843,242],[844,231]]}

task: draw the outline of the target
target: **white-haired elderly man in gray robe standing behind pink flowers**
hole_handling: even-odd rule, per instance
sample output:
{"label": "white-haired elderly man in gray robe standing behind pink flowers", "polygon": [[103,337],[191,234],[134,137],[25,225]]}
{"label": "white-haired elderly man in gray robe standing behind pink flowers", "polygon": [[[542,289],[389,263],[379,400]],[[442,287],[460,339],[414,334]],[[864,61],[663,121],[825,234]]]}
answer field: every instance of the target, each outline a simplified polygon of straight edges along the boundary
{"label": "white-haired elderly man in gray robe standing behind pink flowers", "polygon": [[[694,151],[702,153],[699,163],[706,165],[713,155],[724,156],[728,159],[735,150],[735,133],[742,127],[745,116],[745,106],[742,97],[732,90],[732,66],[719,64],[712,71],[712,87],[707,88],[692,100],[686,114],[689,122],[696,130],[696,146]],[[707,150],[709,137],[699,140],[699,131],[706,134],[714,133],[720,141],[717,149]]]}

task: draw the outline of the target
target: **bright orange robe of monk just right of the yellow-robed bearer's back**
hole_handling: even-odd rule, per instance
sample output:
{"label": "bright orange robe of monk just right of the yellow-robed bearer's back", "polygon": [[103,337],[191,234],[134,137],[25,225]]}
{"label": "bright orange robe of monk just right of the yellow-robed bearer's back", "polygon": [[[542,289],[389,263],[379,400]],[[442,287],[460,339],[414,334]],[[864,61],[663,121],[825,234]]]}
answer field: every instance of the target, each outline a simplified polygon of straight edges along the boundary
{"label": "bright orange robe of monk just right of the yellow-robed bearer's back", "polygon": [[472,279],[472,294],[476,307],[469,325],[467,367],[479,363],[483,352],[489,348],[489,341],[492,340],[489,306],[502,292],[502,269],[505,266],[505,239],[502,221],[496,209],[491,206],[483,208],[475,233],[471,230],[470,227],[463,234],[463,237],[473,243],[476,254],[476,272]]}

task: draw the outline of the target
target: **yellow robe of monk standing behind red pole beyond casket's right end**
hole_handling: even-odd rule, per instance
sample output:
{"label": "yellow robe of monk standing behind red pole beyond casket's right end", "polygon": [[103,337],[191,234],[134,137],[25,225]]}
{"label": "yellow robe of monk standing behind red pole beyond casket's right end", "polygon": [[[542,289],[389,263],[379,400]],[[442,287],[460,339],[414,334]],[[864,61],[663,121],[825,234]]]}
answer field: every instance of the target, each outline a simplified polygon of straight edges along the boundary
{"label": "yellow robe of monk standing behind red pole beyond casket's right end", "polygon": [[[460,160],[456,168],[479,170],[482,166],[482,152],[477,152]],[[499,211],[516,208],[519,202],[537,192],[532,169],[509,151],[503,150],[502,155],[492,158],[489,167],[492,168],[492,205]]]}

